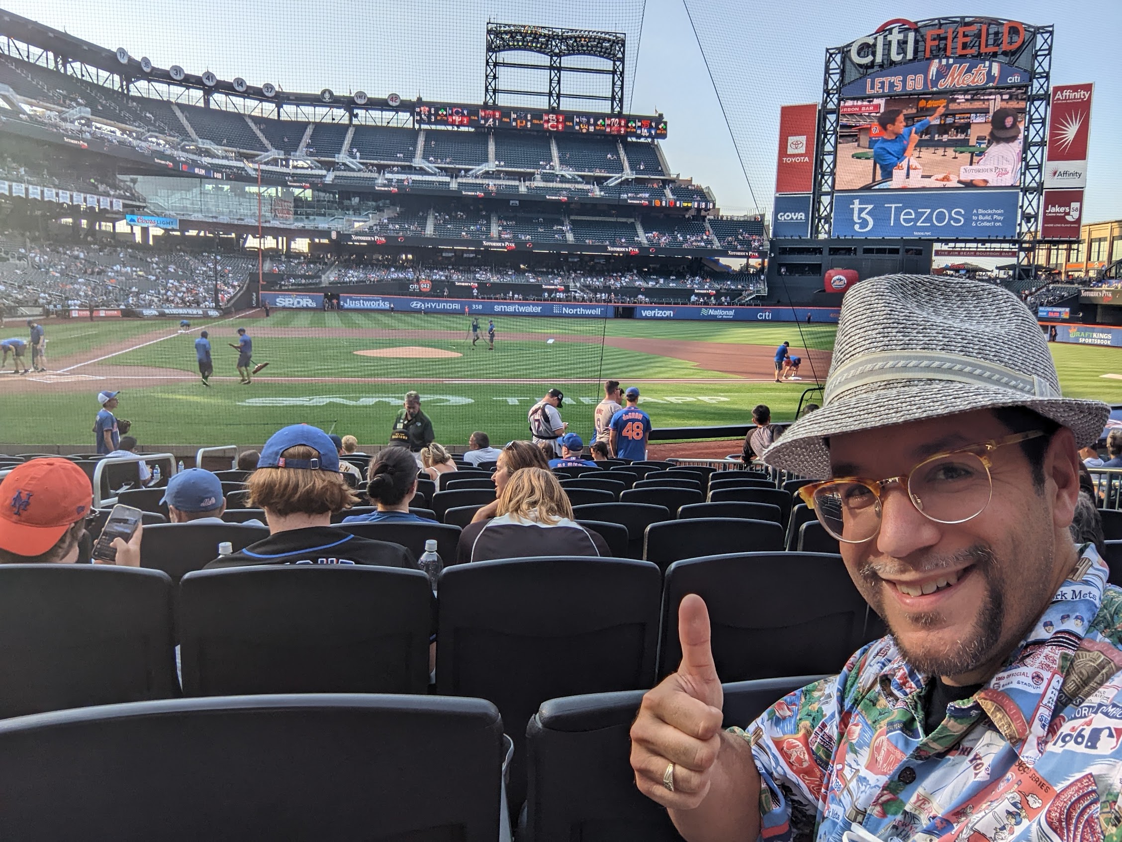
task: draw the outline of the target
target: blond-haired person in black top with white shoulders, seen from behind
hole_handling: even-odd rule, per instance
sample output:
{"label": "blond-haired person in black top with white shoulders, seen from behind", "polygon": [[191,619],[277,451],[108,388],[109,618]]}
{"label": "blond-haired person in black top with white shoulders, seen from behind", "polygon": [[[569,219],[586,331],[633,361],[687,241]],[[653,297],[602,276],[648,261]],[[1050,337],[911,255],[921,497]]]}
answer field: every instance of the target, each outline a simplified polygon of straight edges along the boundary
{"label": "blond-haired person in black top with white shoulders, seen from behind", "polygon": [[534,556],[610,556],[597,533],[573,520],[572,506],[552,472],[514,472],[498,498],[498,514],[460,533],[456,562]]}

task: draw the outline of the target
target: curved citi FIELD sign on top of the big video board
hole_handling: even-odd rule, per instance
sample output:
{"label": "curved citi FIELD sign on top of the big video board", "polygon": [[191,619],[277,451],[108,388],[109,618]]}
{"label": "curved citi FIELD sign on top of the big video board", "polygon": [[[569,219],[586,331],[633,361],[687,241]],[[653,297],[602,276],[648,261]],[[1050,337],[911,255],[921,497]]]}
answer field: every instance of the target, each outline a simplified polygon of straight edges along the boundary
{"label": "curved citi FIELD sign on top of the big video board", "polygon": [[1036,28],[1018,20],[963,17],[917,22],[895,18],[840,48],[843,82],[898,65],[932,61],[964,67],[967,63],[976,67],[978,62],[995,62],[1028,72],[1034,44]]}

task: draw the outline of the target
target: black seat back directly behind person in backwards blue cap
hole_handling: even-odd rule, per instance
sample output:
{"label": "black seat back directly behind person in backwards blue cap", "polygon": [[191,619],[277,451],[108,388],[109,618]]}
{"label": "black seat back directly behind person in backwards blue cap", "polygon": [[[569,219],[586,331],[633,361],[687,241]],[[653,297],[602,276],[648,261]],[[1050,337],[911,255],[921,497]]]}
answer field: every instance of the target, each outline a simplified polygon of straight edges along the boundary
{"label": "black seat back directly behind person in backwards blue cap", "polygon": [[421,570],[289,565],[187,574],[183,693],[420,693],[432,588]]}

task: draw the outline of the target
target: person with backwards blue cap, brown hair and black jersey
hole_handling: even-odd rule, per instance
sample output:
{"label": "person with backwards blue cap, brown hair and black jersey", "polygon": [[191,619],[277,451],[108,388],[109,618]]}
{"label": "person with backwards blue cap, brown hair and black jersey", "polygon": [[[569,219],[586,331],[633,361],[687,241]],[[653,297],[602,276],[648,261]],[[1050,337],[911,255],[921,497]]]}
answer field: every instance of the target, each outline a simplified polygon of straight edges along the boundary
{"label": "person with backwards blue cap, brown hair and black jersey", "polygon": [[331,525],[358,497],[339,474],[339,454],[316,427],[293,424],[265,442],[249,479],[248,505],[265,510],[269,537],[206,565],[378,565],[416,569],[406,548]]}

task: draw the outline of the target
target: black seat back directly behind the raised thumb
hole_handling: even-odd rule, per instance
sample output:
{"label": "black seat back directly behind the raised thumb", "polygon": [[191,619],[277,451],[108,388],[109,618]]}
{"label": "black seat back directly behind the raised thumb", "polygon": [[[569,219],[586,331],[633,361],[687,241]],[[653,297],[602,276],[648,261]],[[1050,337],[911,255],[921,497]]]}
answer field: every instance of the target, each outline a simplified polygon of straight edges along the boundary
{"label": "black seat back directly behind the raised thumb", "polygon": [[[792,588],[799,600],[778,598]],[[717,675],[729,680],[833,674],[863,646],[875,616],[840,556],[737,552],[675,561],[666,570],[659,675],[678,668],[678,605],[698,594],[709,610]]]}

